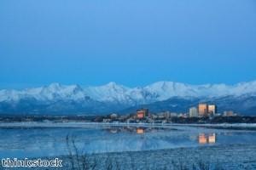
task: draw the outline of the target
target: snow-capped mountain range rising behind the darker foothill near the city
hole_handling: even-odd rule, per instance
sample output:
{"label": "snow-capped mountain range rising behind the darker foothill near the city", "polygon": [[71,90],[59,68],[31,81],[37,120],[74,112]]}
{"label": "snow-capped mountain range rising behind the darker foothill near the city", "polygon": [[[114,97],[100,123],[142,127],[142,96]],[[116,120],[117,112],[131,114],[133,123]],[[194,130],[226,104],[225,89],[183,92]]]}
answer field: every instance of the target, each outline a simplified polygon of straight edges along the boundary
{"label": "snow-capped mountain range rising behind the darker foothill near the city", "polygon": [[[30,111],[30,105],[34,112],[42,112],[42,106],[52,108],[53,111],[61,108],[61,104],[67,102],[72,105],[73,110],[77,105],[85,108],[79,112],[86,111],[86,107],[92,106],[104,108],[104,111],[125,110],[137,105],[150,105],[172,98],[181,99],[220,99],[232,96],[237,99],[241,96],[256,96],[256,81],[241,82],[235,85],[226,84],[203,84],[190,85],[181,82],[155,82],[145,87],[128,88],[115,82],[109,82],[99,87],[81,87],[79,85],[62,85],[52,83],[49,86],[39,88],[26,88],[23,90],[2,89],[0,90],[0,112]],[[61,102],[61,104],[60,104]],[[35,105],[34,103],[37,103]],[[57,105],[58,108],[52,105]],[[76,104],[76,105],[75,105]],[[25,105],[25,106],[24,106]],[[19,106],[20,109],[16,109]],[[24,111],[22,111],[22,108]],[[50,112],[49,109],[46,111]],[[60,109],[60,111],[65,111]],[[69,111],[69,110],[67,110]]]}

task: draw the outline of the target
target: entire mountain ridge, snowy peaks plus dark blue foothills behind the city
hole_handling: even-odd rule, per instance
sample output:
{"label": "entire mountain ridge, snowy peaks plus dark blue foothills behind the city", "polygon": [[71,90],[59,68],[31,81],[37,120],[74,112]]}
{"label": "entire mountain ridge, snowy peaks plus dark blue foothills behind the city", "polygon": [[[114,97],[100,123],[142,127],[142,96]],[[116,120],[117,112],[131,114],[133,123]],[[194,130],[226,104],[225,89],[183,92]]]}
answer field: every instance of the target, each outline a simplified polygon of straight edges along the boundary
{"label": "entire mountain ridge, snowy peaks plus dark blue foothills behind the city", "polygon": [[[136,88],[128,88],[115,82],[99,87],[83,88],[79,85],[52,83],[49,86],[23,90],[2,89],[0,90],[0,113],[103,114],[113,111],[134,111],[131,108],[142,106],[147,106],[149,109],[153,107],[152,111],[186,111],[189,105],[185,101],[188,99],[195,103],[203,101],[218,103],[223,109],[235,109],[235,111],[254,114],[256,113],[254,111],[256,81],[235,85],[154,82],[148,86]],[[195,105],[193,102],[191,105]],[[235,103],[241,105],[241,108],[234,105]]]}

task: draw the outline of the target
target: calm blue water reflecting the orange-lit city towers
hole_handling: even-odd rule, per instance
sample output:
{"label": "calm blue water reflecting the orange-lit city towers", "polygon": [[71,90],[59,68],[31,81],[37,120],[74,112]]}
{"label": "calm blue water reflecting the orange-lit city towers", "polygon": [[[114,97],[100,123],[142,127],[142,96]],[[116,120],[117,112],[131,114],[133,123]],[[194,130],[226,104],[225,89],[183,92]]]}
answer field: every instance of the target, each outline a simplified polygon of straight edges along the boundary
{"label": "calm blue water reflecting the orange-lit city towers", "polygon": [[1,127],[0,157],[67,155],[67,136],[87,153],[255,144],[255,131],[204,127]]}

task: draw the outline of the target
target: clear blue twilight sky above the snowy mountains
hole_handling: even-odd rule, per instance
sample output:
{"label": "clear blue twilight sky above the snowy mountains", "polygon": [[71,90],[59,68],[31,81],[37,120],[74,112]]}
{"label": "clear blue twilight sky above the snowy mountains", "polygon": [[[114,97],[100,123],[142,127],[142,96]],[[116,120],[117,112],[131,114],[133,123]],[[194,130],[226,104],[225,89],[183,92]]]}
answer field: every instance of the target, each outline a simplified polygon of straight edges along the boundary
{"label": "clear blue twilight sky above the snowy mountains", "polygon": [[254,0],[2,0],[0,88],[256,79]]}

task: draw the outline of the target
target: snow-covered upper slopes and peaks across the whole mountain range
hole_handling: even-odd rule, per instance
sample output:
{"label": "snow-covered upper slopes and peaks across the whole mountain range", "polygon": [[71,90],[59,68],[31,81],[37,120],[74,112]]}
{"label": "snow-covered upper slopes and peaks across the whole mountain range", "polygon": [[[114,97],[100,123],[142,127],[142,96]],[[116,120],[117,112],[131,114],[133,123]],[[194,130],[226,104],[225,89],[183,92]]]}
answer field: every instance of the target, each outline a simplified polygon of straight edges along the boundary
{"label": "snow-covered upper slopes and peaks across the whole mountain range", "polygon": [[189,85],[180,82],[155,82],[146,87],[127,88],[109,82],[100,87],[80,88],[79,85],[61,85],[52,83],[41,88],[24,90],[0,90],[1,101],[18,101],[24,98],[38,100],[79,100],[90,97],[97,101],[122,105],[148,104],[172,97],[222,97],[256,95],[256,81],[241,82],[235,85],[204,84]]}

